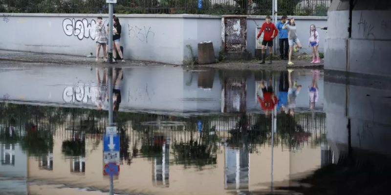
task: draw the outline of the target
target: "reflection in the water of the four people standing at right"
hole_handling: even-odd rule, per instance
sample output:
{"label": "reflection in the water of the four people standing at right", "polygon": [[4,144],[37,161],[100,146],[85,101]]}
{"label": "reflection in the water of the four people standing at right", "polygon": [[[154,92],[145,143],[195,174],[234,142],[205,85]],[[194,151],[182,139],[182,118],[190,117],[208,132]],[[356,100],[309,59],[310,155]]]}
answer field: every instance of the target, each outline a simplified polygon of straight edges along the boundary
{"label": "reflection in the water of the four people standing at right", "polygon": [[[270,116],[276,106],[277,110],[289,115],[294,115],[296,98],[302,89],[302,85],[297,84],[297,81],[292,82],[292,71],[293,70],[288,69],[287,71],[280,72],[278,98],[273,90],[272,79],[270,78],[268,86],[266,86],[265,80],[262,78],[260,83],[262,98],[258,93],[257,98],[266,116]],[[311,85],[308,86],[309,108],[315,109],[315,103],[318,101],[319,89],[317,80],[320,72],[319,70],[312,70],[311,73],[312,82]]]}

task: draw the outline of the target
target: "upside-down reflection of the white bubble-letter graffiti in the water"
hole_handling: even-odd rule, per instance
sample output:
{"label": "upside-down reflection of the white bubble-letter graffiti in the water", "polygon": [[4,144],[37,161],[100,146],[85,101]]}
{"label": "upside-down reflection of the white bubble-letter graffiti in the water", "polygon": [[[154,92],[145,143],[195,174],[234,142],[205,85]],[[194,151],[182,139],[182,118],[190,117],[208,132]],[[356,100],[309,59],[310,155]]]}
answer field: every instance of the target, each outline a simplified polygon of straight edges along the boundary
{"label": "upside-down reflection of the white bubble-letter graffiti in the water", "polygon": [[93,83],[86,85],[79,81],[74,86],[67,86],[63,91],[63,100],[66,103],[95,103],[97,87]]}

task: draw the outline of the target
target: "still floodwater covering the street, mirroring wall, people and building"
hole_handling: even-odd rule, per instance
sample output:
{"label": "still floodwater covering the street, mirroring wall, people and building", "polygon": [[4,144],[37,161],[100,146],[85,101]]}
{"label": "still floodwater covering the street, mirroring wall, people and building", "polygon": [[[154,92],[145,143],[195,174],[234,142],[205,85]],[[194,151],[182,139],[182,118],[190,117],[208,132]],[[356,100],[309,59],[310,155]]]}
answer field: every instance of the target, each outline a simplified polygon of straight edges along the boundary
{"label": "still floodwater covering the street, mirroring wall, people and building", "polygon": [[[382,194],[390,184],[387,78],[112,71],[108,138],[107,68],[0,68],[1,195],[108,194],[108,172],[121,195]],[[105,168],[110,139],[119,169]]]}

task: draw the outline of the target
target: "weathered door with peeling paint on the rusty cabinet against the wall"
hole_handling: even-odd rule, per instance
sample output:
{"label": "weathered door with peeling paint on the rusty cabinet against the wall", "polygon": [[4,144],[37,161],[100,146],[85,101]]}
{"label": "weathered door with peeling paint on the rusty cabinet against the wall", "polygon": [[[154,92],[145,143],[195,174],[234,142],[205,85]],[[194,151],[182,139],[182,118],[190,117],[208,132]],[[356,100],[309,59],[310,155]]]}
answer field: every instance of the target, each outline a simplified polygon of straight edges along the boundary
{"label": "weathered door with peeling paint on the rusty cabinet against the wall", "polygon": [[224,18],[224,49],[226,52],[245,52],[246,34],[246,17]]}

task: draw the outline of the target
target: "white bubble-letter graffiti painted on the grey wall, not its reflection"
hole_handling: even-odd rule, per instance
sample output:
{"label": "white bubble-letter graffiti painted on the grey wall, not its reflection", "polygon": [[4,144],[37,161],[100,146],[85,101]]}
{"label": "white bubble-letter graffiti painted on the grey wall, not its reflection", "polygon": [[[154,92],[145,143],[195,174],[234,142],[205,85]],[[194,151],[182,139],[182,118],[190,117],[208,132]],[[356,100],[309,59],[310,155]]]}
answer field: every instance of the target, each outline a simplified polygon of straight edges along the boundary
{"label": "white bubble-letter graffiti painted on the grey wall, not its reflection", "polygon": [[75,36],[79,40],[83,40],[84,38],[91,38],[95,40],[95,20],[90,20],[88,22],[87,19],[75,20],[75,19],[64,19],[63,20],[63,30],[66,36]]}

